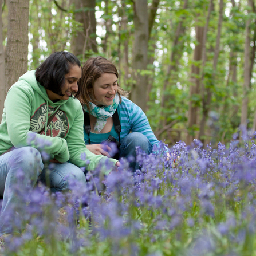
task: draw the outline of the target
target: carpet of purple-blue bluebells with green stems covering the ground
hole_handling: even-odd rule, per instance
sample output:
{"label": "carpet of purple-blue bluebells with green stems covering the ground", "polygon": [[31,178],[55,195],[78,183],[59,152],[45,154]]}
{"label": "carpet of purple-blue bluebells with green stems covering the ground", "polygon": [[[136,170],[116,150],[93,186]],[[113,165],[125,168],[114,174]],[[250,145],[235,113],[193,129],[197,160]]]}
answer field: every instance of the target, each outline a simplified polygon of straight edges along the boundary
{"label": "carpet of purple-blue bluebells with green stems covering the ground", "polygon": [[27,225],[0,254],[256,255],[256,145],[243,139],[217,149],[179,141],[169,160],[164,144],[149,156],[137,149],[134,175],[123,160],[119,171],[104,177],[98,167],[87,186],[74,181],[66,193],[39,184],[26,196],[17,186],[27,215],[13,218],[14,206],[6,221]]}

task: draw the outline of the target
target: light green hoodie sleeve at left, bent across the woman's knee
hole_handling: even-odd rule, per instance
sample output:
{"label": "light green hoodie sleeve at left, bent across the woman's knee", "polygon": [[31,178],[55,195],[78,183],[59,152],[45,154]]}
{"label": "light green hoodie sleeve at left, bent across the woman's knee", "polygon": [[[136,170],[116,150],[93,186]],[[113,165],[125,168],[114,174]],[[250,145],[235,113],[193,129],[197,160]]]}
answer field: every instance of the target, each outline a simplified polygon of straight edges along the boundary
{"label": "light green hoodie sleeve at left, bent across the woman's knee", "polygon": [[[21,82],[22,83],[22,82]],[[60,137],[39,135],[29,131],[31,117],[31,92],[22,86],[13,86],[5,100],[7,133],[15,148],[31,145],[56,156],[60,162],[69,159],[66,140]]]}

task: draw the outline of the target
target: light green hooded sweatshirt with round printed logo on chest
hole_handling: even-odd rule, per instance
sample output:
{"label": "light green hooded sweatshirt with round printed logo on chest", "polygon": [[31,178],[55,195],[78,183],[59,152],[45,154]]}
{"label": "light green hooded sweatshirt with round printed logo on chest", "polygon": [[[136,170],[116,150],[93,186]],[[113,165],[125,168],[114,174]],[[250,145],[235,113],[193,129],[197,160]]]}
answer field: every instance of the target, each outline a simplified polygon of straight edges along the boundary
{"label": "light green hooded sweatshirt with round printed logo on chest", "polygon": [[[53,120],[38,134],[57,106],[59,108]],[[86,148],[83,123],[82,106],[77,99],[70,97],[53,103],[46,89],[37,82],[35,70],[27,72],[11,86],[5,99],[0,125],[0,154],[13,146],[31,145],[48,153],[50,159],[55,157],[60,162],[69,160],[92,171],[100,160],[107,157],[94,155]],[[117,162],[109,160],[112,164]]]}

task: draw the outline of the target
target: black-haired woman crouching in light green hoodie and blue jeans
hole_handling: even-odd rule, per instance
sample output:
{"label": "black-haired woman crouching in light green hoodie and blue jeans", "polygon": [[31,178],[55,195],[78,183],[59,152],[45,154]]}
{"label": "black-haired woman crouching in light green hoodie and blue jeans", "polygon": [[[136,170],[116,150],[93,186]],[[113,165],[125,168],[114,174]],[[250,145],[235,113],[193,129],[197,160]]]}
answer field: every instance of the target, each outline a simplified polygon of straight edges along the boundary
{"label": "black-haired woman crouching in light green hoodie and blue jeans", "polygon": [[82,107],[72,96],[78,92],[81,73],[76,56],[55,52],[7,93],[0,125],[0,236],[11,232],[5,217],[19,200],[15,186],[29,194],[38,180],[48,180],[51,191],[64,191],[70,179],[86,183],[79,167],[94,170],[108,159],[85,146]]}

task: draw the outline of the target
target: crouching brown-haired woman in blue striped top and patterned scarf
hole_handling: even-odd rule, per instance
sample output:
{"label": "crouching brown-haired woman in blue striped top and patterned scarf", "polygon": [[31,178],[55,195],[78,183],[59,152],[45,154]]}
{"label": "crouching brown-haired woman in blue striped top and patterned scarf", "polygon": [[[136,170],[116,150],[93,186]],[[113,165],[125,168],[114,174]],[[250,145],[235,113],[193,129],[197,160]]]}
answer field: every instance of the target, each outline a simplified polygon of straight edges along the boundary
{"label": "crouching brown-haired woman in blue striped top and patterned scarf", "polygon": [[[101,56],[89,58],[82,67],[81,90],[76,97],[85,112],[84,140],[91,152],[110,157],[111,148],[101,143],[112,138],[119,143],[116,158],[128,158],[131,169],[136,170],[139,168],[136,148],[140,147],[149,155],[154,151],[153,146],[159,145],[159,140],[145,113],[125,97],[127,93],[119,86],[118,77],[116,66]],[[116,119],[120,121],[117,125]],[[168,148],[166,153],[168,155]]]}

